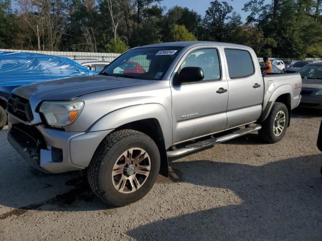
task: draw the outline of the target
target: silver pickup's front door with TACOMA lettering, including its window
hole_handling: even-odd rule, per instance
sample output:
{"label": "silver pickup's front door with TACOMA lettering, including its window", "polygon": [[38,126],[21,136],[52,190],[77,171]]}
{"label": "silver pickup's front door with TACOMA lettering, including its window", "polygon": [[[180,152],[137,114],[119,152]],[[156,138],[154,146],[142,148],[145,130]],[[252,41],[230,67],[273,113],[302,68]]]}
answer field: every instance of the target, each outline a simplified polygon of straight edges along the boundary
{"label": "silver pickup's front door with TACOMA lettering, including its window", "polygon": [[[172,86],[175,144],[225,130],[227,124],[228,84],[222,78],[218,50],[193,50],[186,56],[177,72],[184,67],[200,67],[205,77],[198,82]],[[220,88],[223,91],[218,91]]]}

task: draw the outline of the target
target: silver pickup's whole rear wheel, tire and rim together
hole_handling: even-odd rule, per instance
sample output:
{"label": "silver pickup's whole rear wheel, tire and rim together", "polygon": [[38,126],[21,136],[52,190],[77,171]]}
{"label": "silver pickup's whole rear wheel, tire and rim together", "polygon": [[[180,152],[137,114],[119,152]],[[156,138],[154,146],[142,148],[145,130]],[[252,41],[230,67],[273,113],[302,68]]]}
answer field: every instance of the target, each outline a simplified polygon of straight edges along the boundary
{"label": "silver pickup's whole rear wheel, tire and rim together", "polygon": [[284,103],[275,102],[267,119],[261,123],[261,138],[268,143],[277,143],[285,135],[288,126],[288,109]]}

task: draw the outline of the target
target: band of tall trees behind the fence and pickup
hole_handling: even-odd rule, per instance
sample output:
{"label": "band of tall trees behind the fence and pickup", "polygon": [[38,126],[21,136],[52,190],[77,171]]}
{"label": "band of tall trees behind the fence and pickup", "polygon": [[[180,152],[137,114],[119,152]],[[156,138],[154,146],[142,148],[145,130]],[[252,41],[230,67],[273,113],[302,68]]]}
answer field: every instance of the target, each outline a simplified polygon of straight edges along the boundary
{"label": "band of tall trees behind the fence and pickup", "polygon": [[[0,0],[0,47],[124,52],[169,41],[222,41],[251,46],[259,56],[322,57],[322,0],[248,0],[241,21],[214,0],[202,18],[162,0]],[[38,26],[38,30],[37,30]]]}

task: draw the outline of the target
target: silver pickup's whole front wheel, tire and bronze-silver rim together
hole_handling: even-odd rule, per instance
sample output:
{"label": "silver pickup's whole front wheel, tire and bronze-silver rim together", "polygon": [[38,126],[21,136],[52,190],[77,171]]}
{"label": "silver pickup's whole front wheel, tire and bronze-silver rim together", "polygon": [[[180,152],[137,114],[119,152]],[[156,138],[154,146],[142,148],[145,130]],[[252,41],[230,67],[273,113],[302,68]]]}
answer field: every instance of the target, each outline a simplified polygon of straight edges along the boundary
{"label": "silver pickup's whole front wheel, tire and bronze-silver rim together", "polygon": [[147,135],[120,130],[111,133],[96,150],[88,168],[95,194],[114,206],[124,206],[144,197],[160,168],[160,154]]}

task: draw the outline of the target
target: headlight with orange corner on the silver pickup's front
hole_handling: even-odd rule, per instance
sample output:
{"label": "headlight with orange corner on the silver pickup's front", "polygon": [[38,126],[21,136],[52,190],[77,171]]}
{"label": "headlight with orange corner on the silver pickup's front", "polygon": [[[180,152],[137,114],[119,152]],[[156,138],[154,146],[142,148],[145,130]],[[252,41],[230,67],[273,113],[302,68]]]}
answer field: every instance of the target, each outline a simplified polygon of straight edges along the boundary
{"label": "headlight with orange corner on the silver pickup's front", "polygon": [[44,101],[39,109],[49,126],[64,127],[75,121],[84,107],[83,101]]}

